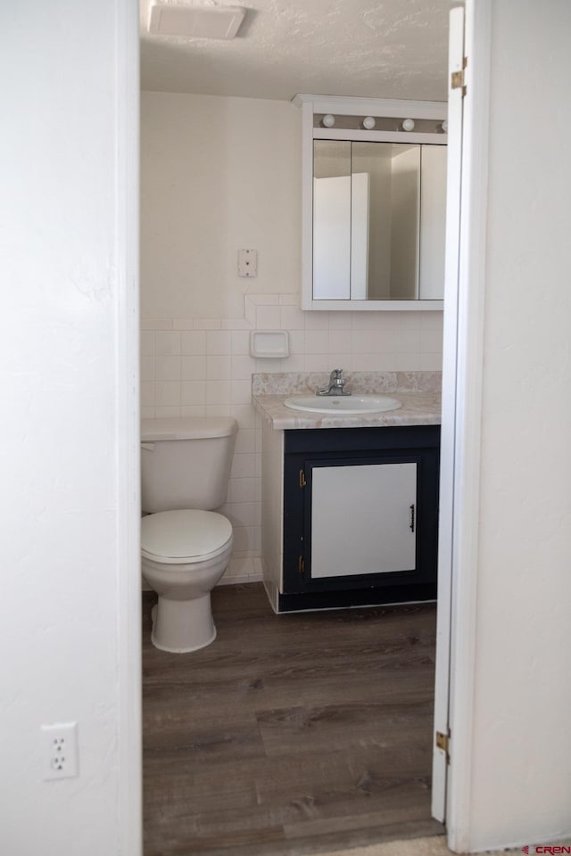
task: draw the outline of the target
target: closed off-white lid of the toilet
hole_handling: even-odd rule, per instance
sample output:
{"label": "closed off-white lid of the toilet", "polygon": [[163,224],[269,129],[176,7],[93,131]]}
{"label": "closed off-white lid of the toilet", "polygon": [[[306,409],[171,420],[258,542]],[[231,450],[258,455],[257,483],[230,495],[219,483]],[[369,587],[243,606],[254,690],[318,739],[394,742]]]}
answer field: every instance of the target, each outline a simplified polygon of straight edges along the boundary
{"label": "closed off-white lid of the toilet", "polygon": [[215,511],[160,511],[141,521],[141,549],[151,556],[207,556],[231,537],[231,523]]}

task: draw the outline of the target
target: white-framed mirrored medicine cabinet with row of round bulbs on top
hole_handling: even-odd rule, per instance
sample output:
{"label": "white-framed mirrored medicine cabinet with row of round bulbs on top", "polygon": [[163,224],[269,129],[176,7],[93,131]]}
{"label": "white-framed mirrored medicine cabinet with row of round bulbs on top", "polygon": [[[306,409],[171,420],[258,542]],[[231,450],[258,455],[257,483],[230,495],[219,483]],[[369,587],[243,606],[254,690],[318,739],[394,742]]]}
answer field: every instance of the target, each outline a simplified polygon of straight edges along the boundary
{"label": "white-framed mirrored medicine cabinet with row of round bulbs on top", "polygon": [[302,309],[443,309],[446,104],[296,95]]}

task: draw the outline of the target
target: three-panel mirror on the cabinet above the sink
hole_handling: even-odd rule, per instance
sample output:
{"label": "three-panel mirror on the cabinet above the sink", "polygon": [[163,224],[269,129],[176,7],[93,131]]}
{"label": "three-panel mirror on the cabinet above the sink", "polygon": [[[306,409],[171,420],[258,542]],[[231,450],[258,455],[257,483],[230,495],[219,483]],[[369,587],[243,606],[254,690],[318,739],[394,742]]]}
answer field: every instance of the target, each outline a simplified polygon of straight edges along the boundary
{"label": "three-panel mirror on the cabinet above the sink", "polygon": [[442,300],[446,146],[313,140],[313,300]]}

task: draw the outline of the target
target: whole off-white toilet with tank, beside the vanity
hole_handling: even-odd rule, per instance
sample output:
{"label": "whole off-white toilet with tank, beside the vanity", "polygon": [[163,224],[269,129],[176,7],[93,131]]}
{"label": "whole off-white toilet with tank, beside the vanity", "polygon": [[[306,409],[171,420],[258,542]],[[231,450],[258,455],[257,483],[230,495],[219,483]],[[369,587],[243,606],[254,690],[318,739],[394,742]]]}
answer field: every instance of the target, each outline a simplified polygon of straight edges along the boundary
{"label": "whole off-white toilet with tank, beside the vanity", "polygon": [[141,424],[141,570],[159,600],[153,645],[186,654],[216,638],[211,590],[228,567],[225,501],[236,442],[230,416],[144,419]]}

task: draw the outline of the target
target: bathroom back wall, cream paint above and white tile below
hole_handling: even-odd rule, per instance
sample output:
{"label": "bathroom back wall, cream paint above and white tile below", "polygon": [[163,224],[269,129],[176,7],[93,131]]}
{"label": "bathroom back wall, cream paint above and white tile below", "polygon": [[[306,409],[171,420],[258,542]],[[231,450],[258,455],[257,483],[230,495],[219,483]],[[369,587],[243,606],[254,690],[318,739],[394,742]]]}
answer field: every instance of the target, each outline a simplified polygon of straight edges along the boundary
{"label": "bathroom back wall, cream paint above and white tile below", "polygon": [[[438,371],[442,312],[302,312],[301,112],[292,104],[142,93],[143,416],[236,416],[223,582],[255,578],[261,430],[252,372]],[[240,248],[258,276],[237,276]],[[249,356],[252,329],[291,356]]]}

